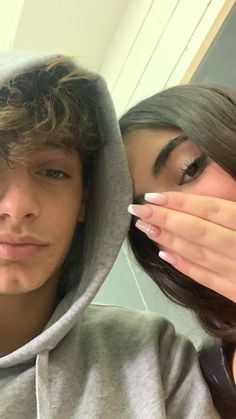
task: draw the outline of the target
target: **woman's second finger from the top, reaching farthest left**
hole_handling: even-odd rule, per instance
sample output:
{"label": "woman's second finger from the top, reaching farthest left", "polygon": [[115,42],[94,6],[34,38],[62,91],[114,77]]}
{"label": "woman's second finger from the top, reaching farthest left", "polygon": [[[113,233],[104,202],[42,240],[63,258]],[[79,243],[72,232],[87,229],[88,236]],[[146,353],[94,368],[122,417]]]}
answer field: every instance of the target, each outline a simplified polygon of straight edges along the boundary
{"label": "woman's second finger from the top, reaching farthest left", "polygon": [[174,236],[202,245],[235,259],[236,232],[190,214],[156,205],[132,205],[130,212],[142,221],[163,228]]}

